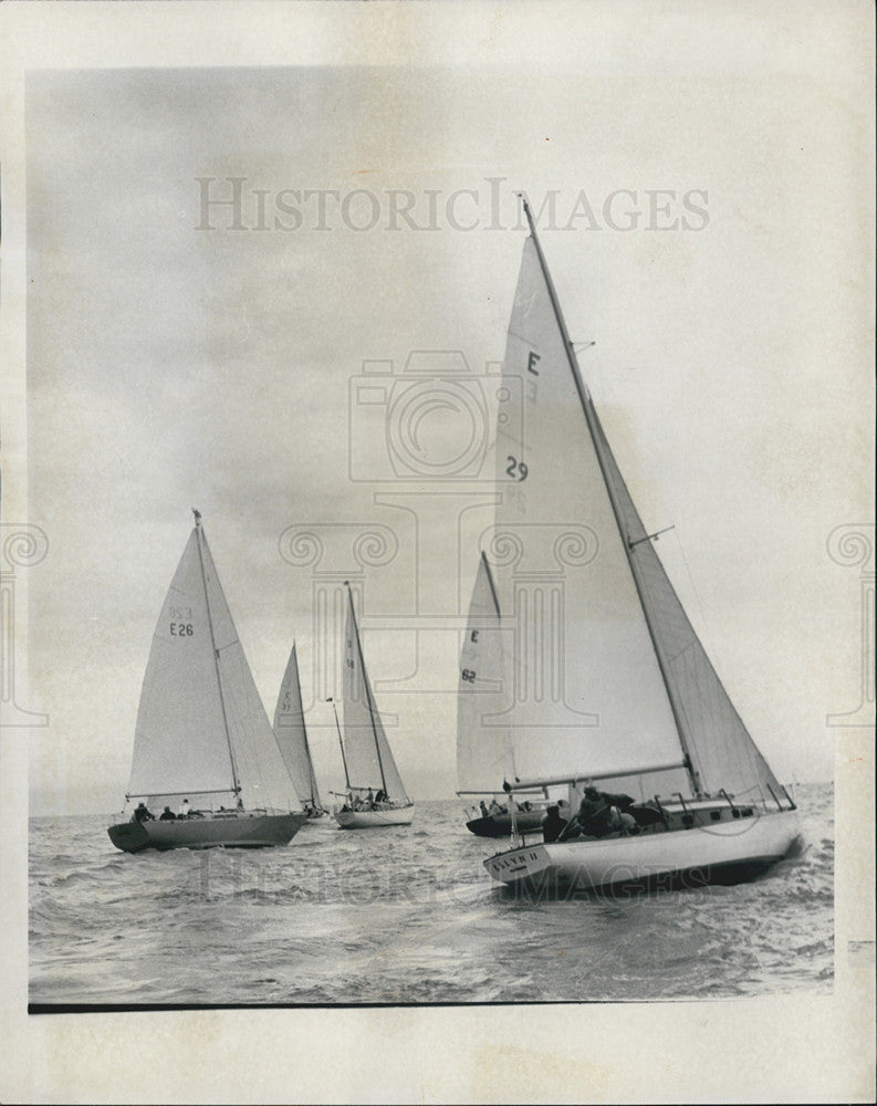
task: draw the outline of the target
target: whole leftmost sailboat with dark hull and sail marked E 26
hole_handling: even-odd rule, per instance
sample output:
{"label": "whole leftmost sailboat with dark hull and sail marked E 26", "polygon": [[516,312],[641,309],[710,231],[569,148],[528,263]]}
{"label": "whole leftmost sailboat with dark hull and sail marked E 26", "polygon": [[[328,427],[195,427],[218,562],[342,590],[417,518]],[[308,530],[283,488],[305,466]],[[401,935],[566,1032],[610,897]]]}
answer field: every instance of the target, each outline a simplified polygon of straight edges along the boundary
{"label": "whole leftmost sailboat with dark hull and sail marked E 26", "polygon": [[285,845],[306,821],[194,513],[140,692],[125,796],[139,803],[107,830],[125,853]]}

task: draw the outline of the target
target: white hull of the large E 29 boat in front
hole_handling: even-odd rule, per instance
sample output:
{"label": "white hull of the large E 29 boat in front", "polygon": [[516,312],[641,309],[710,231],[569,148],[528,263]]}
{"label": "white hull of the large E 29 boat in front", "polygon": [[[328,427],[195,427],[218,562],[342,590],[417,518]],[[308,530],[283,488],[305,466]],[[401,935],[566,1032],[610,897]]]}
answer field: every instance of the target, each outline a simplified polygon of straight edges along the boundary
{"label": "white hull of the large E 29 boat in front", "polygon": [[523,845],[489,857],[484,867],[504,884],[582,890],[675,881],[701,886],[752,878],[781,860],[796,837],[795,813],[777,811],[745,823]]}

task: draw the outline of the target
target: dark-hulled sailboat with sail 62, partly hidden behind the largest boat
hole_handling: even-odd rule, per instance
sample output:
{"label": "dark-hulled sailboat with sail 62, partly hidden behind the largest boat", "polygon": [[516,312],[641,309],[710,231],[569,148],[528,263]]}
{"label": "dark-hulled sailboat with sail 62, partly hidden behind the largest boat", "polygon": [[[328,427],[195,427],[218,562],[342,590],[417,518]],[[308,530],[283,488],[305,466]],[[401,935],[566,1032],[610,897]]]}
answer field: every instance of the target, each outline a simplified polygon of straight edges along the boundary
{"label": "dark-hulled sailboat with sail 62, partly hidden behind the largest boat", "polygon": [[481,815],[466,823],[479,837],[510,836],[510,803],[516,807],[519,832],[539,830],[545,814],[545,803],[536,799],[541,792],[511,799],[502,787],[515,775],[512,730],[498,713],[507,678],[504,637],[497,586],[482,552],[460,650],[457,696],[457,794],[479,799]]}

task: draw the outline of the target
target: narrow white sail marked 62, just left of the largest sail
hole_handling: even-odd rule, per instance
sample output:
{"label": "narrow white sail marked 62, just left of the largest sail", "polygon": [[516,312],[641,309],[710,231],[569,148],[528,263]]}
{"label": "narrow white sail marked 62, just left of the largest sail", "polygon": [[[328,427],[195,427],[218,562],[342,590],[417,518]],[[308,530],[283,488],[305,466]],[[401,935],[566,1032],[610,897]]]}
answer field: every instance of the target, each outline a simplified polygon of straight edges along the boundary
{"label": "narrow white sail marked 62, just left of the largest sail", "polygon": [[457,786],[460,792],[500,791],[503,781],[514,778],[503,662],[499,601],[490,565],[482,553],[460,650],[457,696]]}

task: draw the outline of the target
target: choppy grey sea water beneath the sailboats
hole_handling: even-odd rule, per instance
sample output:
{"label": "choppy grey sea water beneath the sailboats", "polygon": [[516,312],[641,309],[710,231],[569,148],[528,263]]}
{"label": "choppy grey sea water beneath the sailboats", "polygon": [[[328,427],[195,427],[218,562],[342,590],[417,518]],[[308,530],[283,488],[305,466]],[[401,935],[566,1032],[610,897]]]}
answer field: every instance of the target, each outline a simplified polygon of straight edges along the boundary
{"label": "choppy grey sea water beneath the sailboats", "polygon": [[501,889],[457,803],[414,825],[306,825],[285,848],[117,852],[111,817],[30,823],[30,1001],[468,1003],[774,994],[833,984],[831,785],[798,789],[801,844],[731,887]]}

